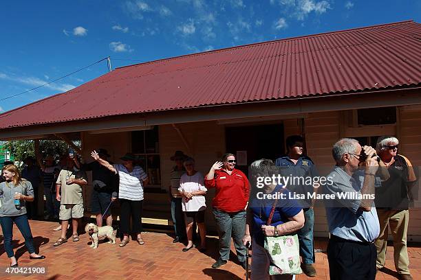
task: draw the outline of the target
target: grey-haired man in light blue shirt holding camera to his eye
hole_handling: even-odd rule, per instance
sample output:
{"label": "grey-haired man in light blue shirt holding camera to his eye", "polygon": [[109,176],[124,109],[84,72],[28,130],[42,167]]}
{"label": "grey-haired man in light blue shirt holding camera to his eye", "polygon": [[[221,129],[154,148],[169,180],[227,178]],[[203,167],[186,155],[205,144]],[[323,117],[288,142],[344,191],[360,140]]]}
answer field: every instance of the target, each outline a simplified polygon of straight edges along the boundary
{"label": "grey-haired man in light blue shirt holding camera to his eye", "polygon": [[[376,279],[380,226],[374,207],[376,150],[355,139],[341,139],[332,149],[336,167],[327,176],[325,195],[330,240],[330,279]],[[362,169],[358,170],[358,166]],[[363,181],[361,180],[363,176]],[[326,197],[327,198],[327,197]]]}

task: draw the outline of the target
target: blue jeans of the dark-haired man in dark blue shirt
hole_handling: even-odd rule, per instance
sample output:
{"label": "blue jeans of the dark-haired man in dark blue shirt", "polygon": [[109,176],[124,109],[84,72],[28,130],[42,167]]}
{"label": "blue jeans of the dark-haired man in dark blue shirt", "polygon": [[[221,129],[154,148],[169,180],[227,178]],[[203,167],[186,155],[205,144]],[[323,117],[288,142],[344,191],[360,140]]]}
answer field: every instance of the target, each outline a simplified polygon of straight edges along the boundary
{"label": "blue jeans of the dark-haired man in dark blue shirt", "polygon": [[303,209],[304,211],[304,226],[298,231],[300,243],[300,255],[303,258],[303,264],[314,264],[316,261],[314,254],[314,211],[312,208]]}

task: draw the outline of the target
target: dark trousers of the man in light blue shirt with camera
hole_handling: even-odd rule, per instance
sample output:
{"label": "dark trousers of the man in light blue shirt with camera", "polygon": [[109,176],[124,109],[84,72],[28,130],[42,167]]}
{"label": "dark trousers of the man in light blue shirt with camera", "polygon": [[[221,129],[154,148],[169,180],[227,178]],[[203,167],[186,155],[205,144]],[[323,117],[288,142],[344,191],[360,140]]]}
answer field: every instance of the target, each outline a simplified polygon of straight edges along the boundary
{"label": "dark trousers of the man in light blue shirt with camera", "polygon": [[374,280],[376,258],[374,243],[354,242],[330,236],[327,260],[331,280]]}

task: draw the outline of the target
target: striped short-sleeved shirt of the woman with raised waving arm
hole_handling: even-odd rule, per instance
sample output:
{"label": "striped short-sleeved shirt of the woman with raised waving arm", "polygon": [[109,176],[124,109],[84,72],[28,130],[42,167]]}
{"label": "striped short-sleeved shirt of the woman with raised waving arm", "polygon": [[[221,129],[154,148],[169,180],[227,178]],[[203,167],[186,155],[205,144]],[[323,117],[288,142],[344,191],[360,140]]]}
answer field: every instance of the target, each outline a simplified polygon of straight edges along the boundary
{"label": "striped short-sleeved shirt of the woman with raised waving arm", "polygon": [[116,174],[120,177],[118,198],[128,200],[143,200],[143,181],[148,178],[142,167],[135,166],[133,171],[127,171],[125,165],[114,164]]}

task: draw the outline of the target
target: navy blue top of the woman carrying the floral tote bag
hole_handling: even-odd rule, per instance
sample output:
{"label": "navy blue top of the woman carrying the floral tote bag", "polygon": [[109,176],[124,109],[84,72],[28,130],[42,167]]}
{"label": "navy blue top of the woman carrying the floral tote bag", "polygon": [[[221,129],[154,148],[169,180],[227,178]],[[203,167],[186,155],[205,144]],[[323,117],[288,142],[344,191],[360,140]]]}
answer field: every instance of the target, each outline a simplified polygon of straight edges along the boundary
{"label": "navy blue top of the woman carrying the floral tote bag", "polygon": [[[279,199],[277,201],[277,206],[274,209],[272,222],[270,223],[271,226],[277,226],[278,224],[288,222],[288,218],[294,217],[294,215],[300,213],[302,210],[299,202],[288,198],[288,189],[283,189],[281,185],[277,185],[277,187],[275,187],[270,194],[274,194],[276,192],[283,192],[286,194],[286,196],[285,199]],[[264,235],[261,230],[261,226],[268,224],[268,219],[273,204],[274,200],[272,199],[263,200],[254,198],[249,205],[253,218],[252,235],[257,244],[260,246],[263,246],[264,242]]]}

